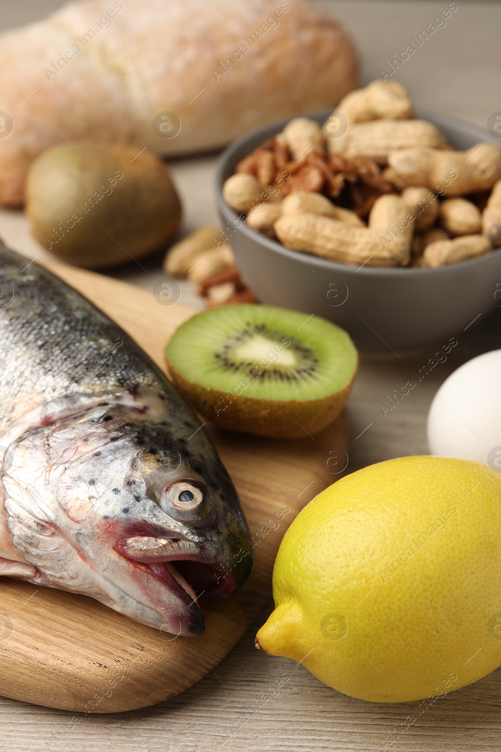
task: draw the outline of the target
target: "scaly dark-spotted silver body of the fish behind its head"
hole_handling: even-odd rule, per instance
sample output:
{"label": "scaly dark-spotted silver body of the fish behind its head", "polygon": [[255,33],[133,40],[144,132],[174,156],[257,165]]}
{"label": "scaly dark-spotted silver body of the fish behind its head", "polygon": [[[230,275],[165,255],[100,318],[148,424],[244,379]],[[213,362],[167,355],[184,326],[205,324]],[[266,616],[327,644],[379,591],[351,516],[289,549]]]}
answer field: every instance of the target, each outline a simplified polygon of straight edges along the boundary
{"label": "scaly dark-spotted silver body of the fish behind its head", "polygon": [[71,393],[74,384],[89,394],[154,387],[186,411],[119,326],[50,271],[35,263],[25,267],[25,258],[0,247],[0,429]]}

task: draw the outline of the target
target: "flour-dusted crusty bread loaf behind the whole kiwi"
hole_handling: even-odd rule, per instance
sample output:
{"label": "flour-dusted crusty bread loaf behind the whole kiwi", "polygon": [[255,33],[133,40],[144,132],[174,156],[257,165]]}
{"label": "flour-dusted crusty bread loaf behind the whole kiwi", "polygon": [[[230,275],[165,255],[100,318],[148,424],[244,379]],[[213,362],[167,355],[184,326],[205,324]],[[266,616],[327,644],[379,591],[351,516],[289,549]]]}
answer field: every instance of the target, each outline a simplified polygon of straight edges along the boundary
{"label": "flour-dusted crusty bread loaf behind the whole kiwi", "polygon": [[335,104],[356,83],[343,28],[310,0],[86,0],[0,36],[0,205],[59,141],[164,155],[224,146]]}

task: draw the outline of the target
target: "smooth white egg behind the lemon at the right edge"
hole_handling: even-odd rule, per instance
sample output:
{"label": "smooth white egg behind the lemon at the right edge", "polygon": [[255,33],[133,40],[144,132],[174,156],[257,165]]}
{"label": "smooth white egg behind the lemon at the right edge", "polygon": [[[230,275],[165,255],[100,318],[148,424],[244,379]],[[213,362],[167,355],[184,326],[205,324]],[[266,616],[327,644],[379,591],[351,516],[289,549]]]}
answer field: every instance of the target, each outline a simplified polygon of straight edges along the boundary
{"label": "smooth white egg behind the lemon at the right edge", "polygon": [[501,472],[501,350],[469,360],[444,381],[427,433],[431,454],[475,459]]}

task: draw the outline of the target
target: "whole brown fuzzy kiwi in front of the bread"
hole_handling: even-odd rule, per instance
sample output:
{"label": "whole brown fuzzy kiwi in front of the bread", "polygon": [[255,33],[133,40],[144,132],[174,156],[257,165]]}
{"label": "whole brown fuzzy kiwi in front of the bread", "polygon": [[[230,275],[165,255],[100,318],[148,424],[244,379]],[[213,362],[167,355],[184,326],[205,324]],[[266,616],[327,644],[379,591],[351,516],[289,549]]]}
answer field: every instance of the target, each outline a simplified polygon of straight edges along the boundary
{"label": "whole brown fuzzy kiwi in front of the bread", "polygon": [[167,243],[181,204],[167,166],[150,150],[68,141],[33,162],[26,183],[32,235],[63,261],[103,268]]}

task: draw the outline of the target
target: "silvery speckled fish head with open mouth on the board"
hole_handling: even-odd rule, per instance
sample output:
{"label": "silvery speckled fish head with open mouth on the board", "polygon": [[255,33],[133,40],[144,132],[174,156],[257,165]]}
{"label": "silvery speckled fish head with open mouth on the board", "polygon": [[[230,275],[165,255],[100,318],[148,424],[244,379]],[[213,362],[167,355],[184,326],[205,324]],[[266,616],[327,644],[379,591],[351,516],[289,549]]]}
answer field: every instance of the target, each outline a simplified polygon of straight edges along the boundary
{"label": "silvery speckled fish head with open mouth on the board", "polygon": [[[125,405],[103,400],[84,417],[32,432],[32,456],[38,441],[47,469],[25,486],[73,547],[68,569],[80,568],[74,587],[67,573],[53,572],[50,584],[92,595],[161,631],[198,635],[205,628],[201,604],[229,596],[249,578],[252,543],[205,429],[186,406],[176,411],[153,397],[143,392]],[[14,467],[23,465],[21,448]],[[56,511],[47,508],[47,483]],[[24,555],[50,572],[36,551]]]}

